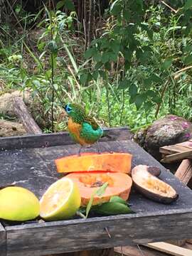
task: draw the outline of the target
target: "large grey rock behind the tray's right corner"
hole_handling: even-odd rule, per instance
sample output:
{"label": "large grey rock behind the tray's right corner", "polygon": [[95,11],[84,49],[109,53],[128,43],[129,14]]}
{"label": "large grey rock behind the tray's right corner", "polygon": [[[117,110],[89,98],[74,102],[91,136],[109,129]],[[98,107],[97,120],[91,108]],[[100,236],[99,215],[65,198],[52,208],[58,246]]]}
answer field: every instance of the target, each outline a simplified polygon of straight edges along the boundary
{"label": "large grey rock behind the tray's right corner", "polygon": [[161,159],[159,147],[186,142],[192,138],[192,124],[183,117],[169,114],[134,135],[137,143],[156,159]]}

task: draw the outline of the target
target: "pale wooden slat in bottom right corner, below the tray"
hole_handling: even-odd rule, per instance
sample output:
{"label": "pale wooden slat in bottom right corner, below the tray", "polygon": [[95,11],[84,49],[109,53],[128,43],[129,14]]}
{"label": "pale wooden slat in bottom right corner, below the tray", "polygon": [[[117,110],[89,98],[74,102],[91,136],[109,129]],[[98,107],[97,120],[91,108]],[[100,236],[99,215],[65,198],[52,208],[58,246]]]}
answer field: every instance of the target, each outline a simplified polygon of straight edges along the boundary
{"label": "pale wooden slat in bottom right corner, below the tray", "polygon": [[174,256],[191,256],[192,251],[183,247],[179,247],[176,245],[171,245],[167,242],[152,242],[146,245],[147,247],[153,248],[155,250],[159,250],[161,252],[166,252],[169,255]]}

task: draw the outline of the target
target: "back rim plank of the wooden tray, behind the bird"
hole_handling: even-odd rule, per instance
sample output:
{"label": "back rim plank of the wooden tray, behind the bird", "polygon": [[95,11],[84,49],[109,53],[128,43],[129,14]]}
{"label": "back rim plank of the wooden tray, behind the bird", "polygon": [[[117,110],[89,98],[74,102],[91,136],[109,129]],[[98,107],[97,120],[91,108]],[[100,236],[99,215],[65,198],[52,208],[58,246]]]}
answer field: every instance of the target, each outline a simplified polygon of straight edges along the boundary
{"label": "back rim plank of the wooden tray, behind the bird", "polygon": [[[104,129],[109,137],[103,137],[100,139],[104,141],[114,141],[130,139],[132,134],[129,132],[127,127],[122,128],[109,128]],[[28,149],[28,148],[41,148],[48,146],[60,146],[74,144],[70,138],[68,132],[58,132],[55,134],[39,134],[39,135],[28,135],[18,137],[4,137],[0,138],[0,151],[10,149]]]}

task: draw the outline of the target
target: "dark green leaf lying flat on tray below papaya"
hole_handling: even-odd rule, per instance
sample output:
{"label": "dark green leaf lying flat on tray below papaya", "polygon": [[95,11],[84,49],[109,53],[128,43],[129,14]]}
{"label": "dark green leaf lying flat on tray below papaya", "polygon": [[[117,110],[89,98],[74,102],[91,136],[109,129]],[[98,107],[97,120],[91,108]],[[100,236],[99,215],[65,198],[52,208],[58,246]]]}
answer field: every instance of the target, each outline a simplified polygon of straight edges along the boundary
{"label": "dark green leaf lying flat on tray below papaya", "polygon": [[118,214],[127,214],[132,213],[132,210],[129,206],[126,206],[124,203],[119,202],[107,202],[102,203],[102,205],[97,206],[94,209],[96,213],[101,215],[118,215]]}

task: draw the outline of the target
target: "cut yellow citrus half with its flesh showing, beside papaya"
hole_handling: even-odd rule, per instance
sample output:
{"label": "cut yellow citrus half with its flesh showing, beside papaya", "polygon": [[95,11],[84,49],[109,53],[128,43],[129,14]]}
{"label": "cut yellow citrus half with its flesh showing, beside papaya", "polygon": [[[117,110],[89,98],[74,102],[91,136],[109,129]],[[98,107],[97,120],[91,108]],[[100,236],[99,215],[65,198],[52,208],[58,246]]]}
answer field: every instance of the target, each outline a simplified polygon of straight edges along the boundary
{"label": "cut yellow citrus half with its flesh showing, beside papaya", "polygon": [[40,215],[45,220],[71,218],[80,208],[78,185],[70,178],[55,181],[40,200]]}

